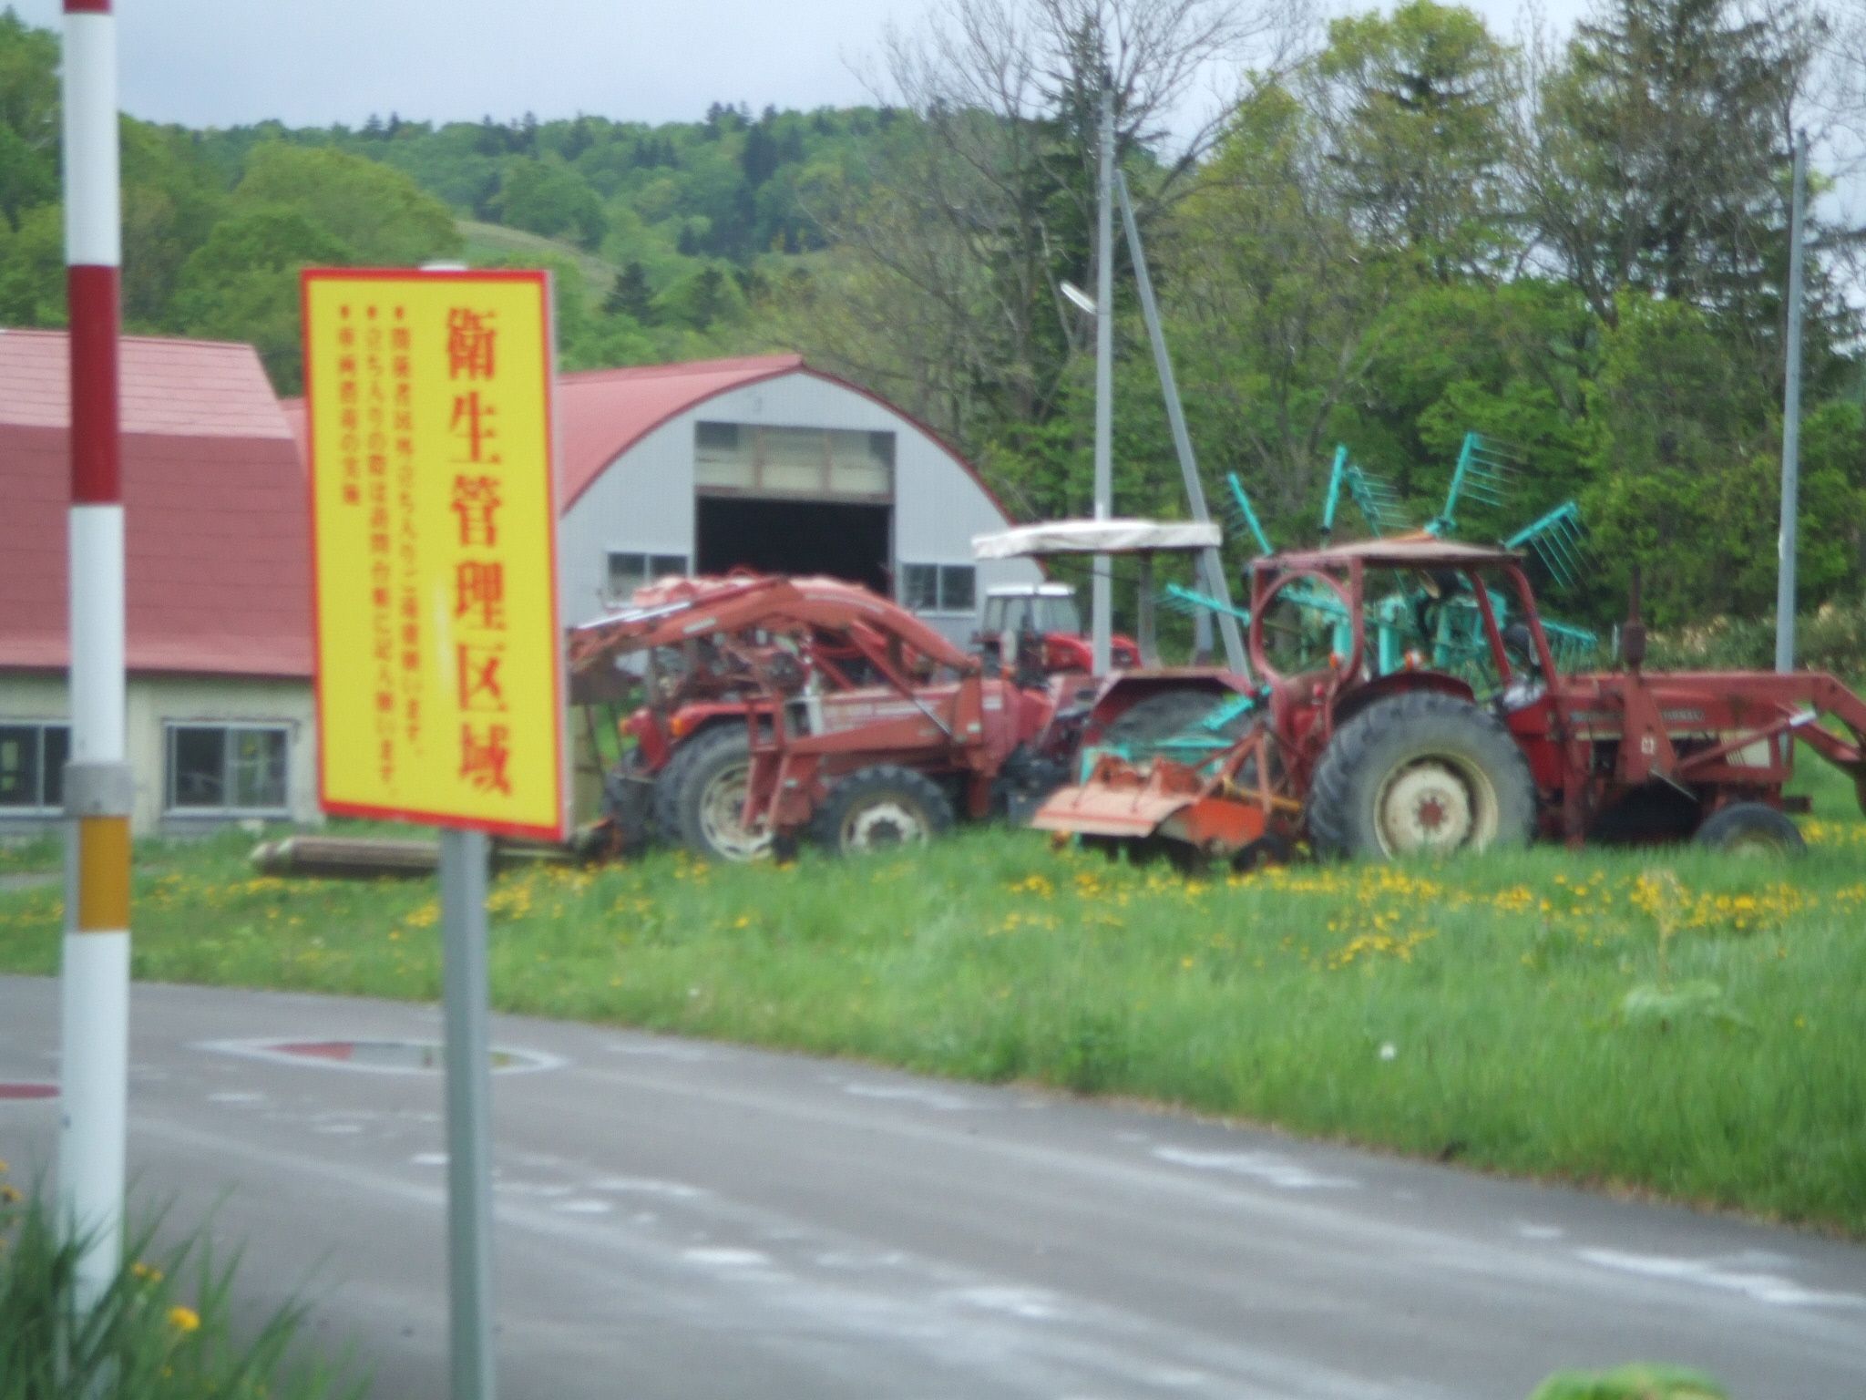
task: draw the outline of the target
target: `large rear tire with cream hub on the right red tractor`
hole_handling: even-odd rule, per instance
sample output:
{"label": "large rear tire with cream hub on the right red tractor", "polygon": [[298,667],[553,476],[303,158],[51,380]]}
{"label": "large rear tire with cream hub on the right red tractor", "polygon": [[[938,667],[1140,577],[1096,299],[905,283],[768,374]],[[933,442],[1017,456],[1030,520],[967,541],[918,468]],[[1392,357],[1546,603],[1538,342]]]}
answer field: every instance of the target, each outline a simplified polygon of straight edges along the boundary
{"label": "large rear tire with cream hub on the right red tractor", "polygon": [[1319,855],[1394,859],[1526,846],[1536,782],[1502,721],[1469,700],[1375,700],[1329,739],[1308,793]]}

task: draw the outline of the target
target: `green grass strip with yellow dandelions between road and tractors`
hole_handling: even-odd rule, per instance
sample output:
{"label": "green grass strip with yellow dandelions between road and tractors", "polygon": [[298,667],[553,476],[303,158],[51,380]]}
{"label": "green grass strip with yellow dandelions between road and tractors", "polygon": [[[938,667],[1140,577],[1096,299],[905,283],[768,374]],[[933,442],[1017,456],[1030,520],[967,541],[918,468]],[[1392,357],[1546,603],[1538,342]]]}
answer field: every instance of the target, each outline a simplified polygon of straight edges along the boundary
{"label": "green grass strip with yellow dandelions between road and tractors", "polygon": [[[974,831],[873,862],[502,875],[500,1008],[1030,1079],[1866,1236],[1866,825],[1793,864],[1534,849],[1187,881]],[[147,846],[134,974],[435,999],[431,883]],[[52,973],[58,889],[0,892]]]}

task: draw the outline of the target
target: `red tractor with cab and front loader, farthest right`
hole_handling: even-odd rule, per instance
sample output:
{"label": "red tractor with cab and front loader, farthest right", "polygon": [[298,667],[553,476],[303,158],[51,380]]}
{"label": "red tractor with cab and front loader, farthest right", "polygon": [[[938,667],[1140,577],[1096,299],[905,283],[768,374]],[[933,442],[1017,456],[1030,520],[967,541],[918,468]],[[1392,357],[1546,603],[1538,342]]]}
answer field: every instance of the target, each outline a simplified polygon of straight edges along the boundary
{"label": "red tractor with cab and front loader, farthest right", "polygon": [[[1370,601],[1396,594],[1418,599],[1420,642],[1373,676]],[[1450,607],[1474,609],[1483,640],[1469,665],[1433,670],[1433,612]],[[1319,612],[1349,623],[1304,627]],[[1784,786],[1797,741],[1849,773],[1866,806],[1866,702],[1832,676],[1644,672],[1636,592],[1622,655],[1622,670],[1560,674],[1506,549],[1411,538],[1269,556],[1250,569],[1261,679],[1114,678],[1086,721],[1088,775],[1034,825],[1239,866],[1299,840],[1345,857],[1532,836],[1795,849],[1804,801]],[[1146,732],[1138,750],[1120,743],[1123,721]]]}

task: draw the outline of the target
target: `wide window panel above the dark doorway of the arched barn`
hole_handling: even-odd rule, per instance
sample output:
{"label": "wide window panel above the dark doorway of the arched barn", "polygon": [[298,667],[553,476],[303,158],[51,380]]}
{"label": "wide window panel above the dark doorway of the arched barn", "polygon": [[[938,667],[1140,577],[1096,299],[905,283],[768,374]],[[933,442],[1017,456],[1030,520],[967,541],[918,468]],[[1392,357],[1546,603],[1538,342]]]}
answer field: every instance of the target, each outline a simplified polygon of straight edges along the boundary
{"label": "wide window panel above the dark doorway of the arched barn", "polygon": [[702,422],[694,426],[694,485],[722,495],[886,500],[894,433]]}

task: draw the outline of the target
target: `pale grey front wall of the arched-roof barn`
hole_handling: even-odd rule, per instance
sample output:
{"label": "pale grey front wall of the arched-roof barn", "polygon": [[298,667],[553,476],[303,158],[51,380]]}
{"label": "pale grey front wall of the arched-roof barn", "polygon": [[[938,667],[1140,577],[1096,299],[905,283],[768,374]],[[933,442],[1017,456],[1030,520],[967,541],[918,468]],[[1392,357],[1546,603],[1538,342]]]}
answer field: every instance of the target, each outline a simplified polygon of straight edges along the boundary
{"label": "pale grey front wall of the arched-roof barn", "polygon": [[[894,433],[896,579],[899,564],[970,564],[972,536],[1006,528],[985,489],[912,420],[843,385],[795,371],[670,418],[590,483],[558,530],[565,623],[601,616],[610,551],[694,558],[694,424],[702,420]],[[1028,560],[993,560],[978,566],[978,594],[1039,579]],[[959,642],[976,625],[972,612],[927,620]]]}

